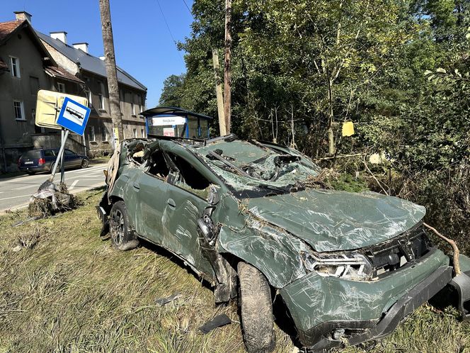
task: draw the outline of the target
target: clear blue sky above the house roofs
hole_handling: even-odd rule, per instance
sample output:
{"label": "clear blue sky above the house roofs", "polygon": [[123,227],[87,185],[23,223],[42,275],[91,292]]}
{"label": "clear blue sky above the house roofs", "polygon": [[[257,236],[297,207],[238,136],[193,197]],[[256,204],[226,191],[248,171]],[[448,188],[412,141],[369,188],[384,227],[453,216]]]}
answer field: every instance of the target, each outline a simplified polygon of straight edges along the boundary
{"label": "clear blue sky above the house roofs", "polygon": [[[183,0],[159,0],[171,34],[184,40],[193,21]],[[189,8],[193,0],[185,0]],[[147,107],[156,106],[164,79],[185,72],[156,0],[110,0],[117,65],[147,86]],[[98,0],[1,0],[0,22],[13,11],[28,11],[36,30],[67,32],[67,43],[87,42],[91,55],[103,55]]]}

